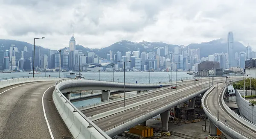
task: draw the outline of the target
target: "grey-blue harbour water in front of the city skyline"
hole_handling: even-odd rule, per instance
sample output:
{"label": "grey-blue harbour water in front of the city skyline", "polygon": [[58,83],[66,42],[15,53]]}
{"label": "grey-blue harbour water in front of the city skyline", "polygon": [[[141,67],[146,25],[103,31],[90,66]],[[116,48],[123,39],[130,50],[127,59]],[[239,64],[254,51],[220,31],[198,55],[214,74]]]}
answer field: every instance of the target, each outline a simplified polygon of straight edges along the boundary
{"label": "grey-blue harbour water in front of the city skyline", "polygon": [[[64,74],[69,74],[70,72],[61,72],[61,77],[64,77]],[[76,72],[78,73],[78,72]],[[111,81],[113,79],[113,74],[111,72],[80,72],[82,76],[86,79],[101,80],[101,81]],[[150,75],[149,75],[150,74]],[[35,75],[36,77],[51,75],[52,78],[59,77],[59,72],[42,72],[41,75]],[[170,76],[169,76],[170,75]],[[12,72],[12,73],[0,73],[0,80],[5,80],[5,78],[12,77],[32,77],[29,75],[29,72]],[[150,79],[149,79],[150,77]],[[125,72],[125,83],[139,83],[146,84],[149,83],[159,83],[159,82],[169,82],[169,78],[172,81],[175,81],[175,72]],[[193,75],[188,75],[186,72],[177,72],[177,81],[186,78],[191,78]],[[114,72],[114,81],[115,82],[124,82],[124,72]],[[76,107],[81,107],[89,104],[98,103],[101,101],[101,98],[92,98],[83,101],[76,101],[73,104]]]}

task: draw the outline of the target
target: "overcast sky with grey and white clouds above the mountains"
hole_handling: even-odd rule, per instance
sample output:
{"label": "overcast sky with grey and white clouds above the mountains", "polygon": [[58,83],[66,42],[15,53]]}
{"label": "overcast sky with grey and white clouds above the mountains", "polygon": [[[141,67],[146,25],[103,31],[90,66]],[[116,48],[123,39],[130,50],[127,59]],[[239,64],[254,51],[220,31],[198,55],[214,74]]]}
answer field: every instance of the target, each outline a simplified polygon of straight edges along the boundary
{"label": "overcast sky with grey and white clouds above the mountains", "polygon": [[[82,1],[82,2],[81,2]],[[0,0],[0,38],[59,49],[101,48],[116,41],[188,45],[213,39],[256,50],[256,0]]]}

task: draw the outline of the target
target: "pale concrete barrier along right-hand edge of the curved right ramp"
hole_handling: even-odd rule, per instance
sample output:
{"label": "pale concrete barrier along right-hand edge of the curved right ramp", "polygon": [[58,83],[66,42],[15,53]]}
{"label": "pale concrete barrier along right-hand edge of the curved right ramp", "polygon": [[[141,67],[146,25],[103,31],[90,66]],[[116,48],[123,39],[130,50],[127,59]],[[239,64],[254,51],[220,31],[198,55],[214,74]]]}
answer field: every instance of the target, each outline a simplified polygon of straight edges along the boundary
{"label": "pale concrete barrier along right-hand edge of the curved right ramp", "polygon": [[[226,90],[227,87],[225,87],[224,90]],[[247,127],[249,127],[250,129],[256,131],[256,125],[253,124],[252,122],[248,121],[247,119],[244,119],[243,117],[239,116],[237,113],[235,113],[233,110],[231,110],[227,104],[224,102],[224,94],[225,93],[222,93],[222,96],[221,96],[221,102],[225,108],[225,110],[227,110],[236,120],[238,120],[239,122],[243,123],[244,125],[246,125]],[[243,98],[242,98],[243,99]],[[251,106],[250,106],[251,107]]]}

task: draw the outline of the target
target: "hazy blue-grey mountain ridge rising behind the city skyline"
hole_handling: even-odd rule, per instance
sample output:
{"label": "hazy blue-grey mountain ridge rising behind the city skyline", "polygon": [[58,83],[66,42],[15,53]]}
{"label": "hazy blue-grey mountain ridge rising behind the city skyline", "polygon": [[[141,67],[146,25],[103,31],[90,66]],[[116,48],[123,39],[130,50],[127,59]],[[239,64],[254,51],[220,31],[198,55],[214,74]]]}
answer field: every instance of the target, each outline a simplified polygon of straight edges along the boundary
{"label": "hazy blue-grey mountain ridge rising behind the city skyline", "polygon": [[[5,47],[2,47],[1,49],[10,49],[11,44],[15,44],[16,47],[18,47],[18,50],[21,51],[23,50],[24,46],[28,47],[29,54],[32,55],[32,49],[33,49],[33,44],[24,42],[24,41],[16,41],[16,40],[5,40],[5,39],[0,39],[0,44],[2,44]],[[245,46],[237,41],[234,41],[234,52],[245,52]],[[147,46],[147,48],[144,48],[144,46]],[[128,40],[122,40],[118,41],[116,43],[111,44],[108,47],[102,47],[100,49],[94,48],[92,49],[93,52],[95,52],[99,57],[101,58],[106,58],[108,52],[111,50],[114,53],[117,51],[121,52],[122,55],[125,55],[125,52],[128,51],[137,51],[138,48],[140,48],[140,52],[150,52],[154,51],[157,52],[157,47],[165,47],[169,46],[169,51],[174,52],[174,47],[175,46],[183,46],[183,45],[174,45],[174,44],[167,44],[163,43],[162,41],[160,42],[147,42],[147,41],[142,41],[142,42],[132,42]],[[189,45],[190,49],[200,49],[200,56],[202,57],[208,57],[208,55],[212,55],[214,53],[221,53],[227,52],[227,41],[225,39],[215,39],[209,42],[202,42],[202,43],[190,43]],[[187,47],[187,46],[186,46]],[[36,46],[35,48],[35,53],[39,54],[39,47]],[[82,45],[77,44],[76,45],[77,49],[81,49],[84,54],[86,54],[88,51],[91,51],[91,48],[84,47]],[[64,47],[62,50],[67,49],[67,47]],[[40,53],[42,55],[44,54],[49,54],[49,50],[47,48],[41,47],[40,48]],[[56,50],[57,51],[57,50]]]}

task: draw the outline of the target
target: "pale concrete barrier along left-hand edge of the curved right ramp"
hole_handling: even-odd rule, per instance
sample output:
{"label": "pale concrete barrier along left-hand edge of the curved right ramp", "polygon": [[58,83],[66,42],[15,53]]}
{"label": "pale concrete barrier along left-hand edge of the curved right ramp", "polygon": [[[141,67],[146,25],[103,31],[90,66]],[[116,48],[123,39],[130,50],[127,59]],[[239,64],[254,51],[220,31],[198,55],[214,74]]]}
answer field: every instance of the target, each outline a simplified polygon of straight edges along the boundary
{"label": "pale concrete barrier along left-hand edge of the curved right ramp", "polygon": [[202,98],[202,107],[204,109],[204,112],[206,113],[207,117],[209,120],[212,121],[212,123],[218,127],[219,130],[221,130],[222,133],[225,134],[225,136],[227,136],[230,139],[250,139],[249,137],[245,136],[243,133],[239,132],[238,130],[234,129],[233,127],[230,127],[226,124],[224,124],[223,121],[221,120],[217,120],[217,117],[214,116],[204,105],[204,99],[206,98],[206,96],[209,94],[209,92],[214,89],[214,87],[210,88],[210,90],[208,90],[203,98]]}

